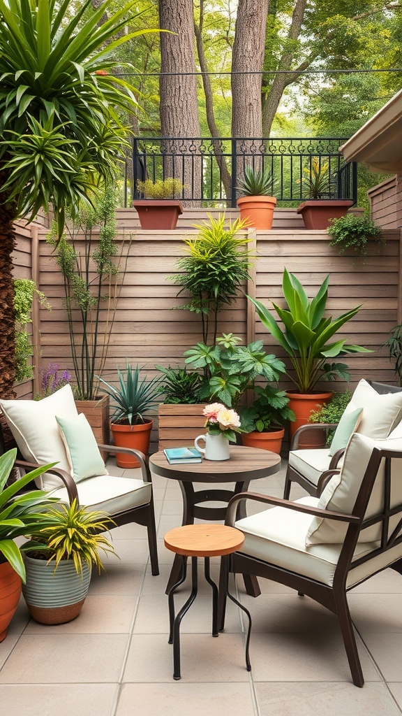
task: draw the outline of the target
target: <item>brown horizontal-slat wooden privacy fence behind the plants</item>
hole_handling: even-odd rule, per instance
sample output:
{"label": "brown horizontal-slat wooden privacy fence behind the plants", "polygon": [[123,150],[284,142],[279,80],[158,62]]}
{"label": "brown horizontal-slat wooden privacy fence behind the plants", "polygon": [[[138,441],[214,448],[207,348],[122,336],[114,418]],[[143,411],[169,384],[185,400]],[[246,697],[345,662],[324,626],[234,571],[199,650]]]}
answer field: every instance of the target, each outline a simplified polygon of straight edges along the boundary
{"label": "brown horizontal-slat wooden privacy fence behind the plants", "polygon": [[[183,352],[202,340],[200,316],[178,309],[186,298],[177,297],[179,287],[169,280],[177,272],[177,259],[183,255],[183,238],[196,236],[197,231],[189,228],[154,235],[134,228],[134,214],[132,217],[133,220],[126,210],[119,221],[117,241],[129,243],[129,258],[102,373],[108,380],[116,378],[116,367],[124,367],[126,359],[144,366],[149,376],[155,374],[155,365],[182,366]],[[243,342],[263,339],[268,352],[283,357],[282,349],[256,321],[245,294],[256,296],[267,306],[270,301],[283,304],[284,267],[298,276],[310,296],[330,274],[328,311],[338,316],[362,304],[342,333],[348,342],[373,351],[345,359],[350,367],[350,387],[353,389],[361,377],[395,382],[393,365],[381,344],[391,328],[402,321],[400,231],[386,231],[386,246],[379,252],[377,246],[371,246],[365,263],[361,259],[354,261],[350,254],[340,256],[336,248],[328,246],[325,232],[273,228],[267,233],[249,231],[247,238],[255,257],[251,280],[235,303],[220,313],[220,332],[232,332]],[[52,311],[34,308],[36,375],[39,365],[46,367],[49,362],[72,370],[62,275],[52,247],[46,243],[46,228],[19,228],[16,240],[15,277],[32,277],[52,304]],[[290,387],[290,382],[284,382],[283,387]],[[334,387],[341,390],[345,384],[337,382]],[[36,388],[37,382],[34,386],[29,382],[19,387],[18,394],[31,395]]]}

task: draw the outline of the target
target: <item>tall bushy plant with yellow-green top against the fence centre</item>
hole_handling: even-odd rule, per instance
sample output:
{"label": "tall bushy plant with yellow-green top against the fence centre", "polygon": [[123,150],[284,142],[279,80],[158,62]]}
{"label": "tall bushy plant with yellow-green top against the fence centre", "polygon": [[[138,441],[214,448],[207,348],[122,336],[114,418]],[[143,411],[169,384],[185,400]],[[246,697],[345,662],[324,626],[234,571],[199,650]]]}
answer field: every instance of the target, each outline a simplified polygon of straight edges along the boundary
{"label": "tall bushy plant with yellow-green top against the fence centre", "polygon": [[190,302],[180,309],[200,314],[205,344],[211,333],[215,344],[219,311],[232,304],[241,284],[250,278],[247,238],[237,236],[246,226],[245,220],[236,219],[230,223],[223,215],[217,219],[209,216],[209,221],[195,224],[198,236],[185,239],[187,256],[177,261],[181,273],[170,276],[175,284],[182,286],[178,296],[183,291],[190,293]]}

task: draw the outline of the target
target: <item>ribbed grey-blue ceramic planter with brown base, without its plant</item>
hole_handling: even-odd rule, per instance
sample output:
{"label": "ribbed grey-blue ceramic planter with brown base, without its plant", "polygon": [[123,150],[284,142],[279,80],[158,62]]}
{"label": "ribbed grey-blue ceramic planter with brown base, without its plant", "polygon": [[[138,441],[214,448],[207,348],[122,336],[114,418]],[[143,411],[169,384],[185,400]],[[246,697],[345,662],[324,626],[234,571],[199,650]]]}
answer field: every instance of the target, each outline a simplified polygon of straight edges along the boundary
{"label": "ribbed grey-blue ceramic planter with brown base, without its plant", "polygon": [[91,570],[82,566],[77,574],[71,559],[61,560],[54,571],[54,562],[24,554],[26,584],[22,594],[31,616],[40,624],[64,624],[72,621],[82,609],[88,594]]}

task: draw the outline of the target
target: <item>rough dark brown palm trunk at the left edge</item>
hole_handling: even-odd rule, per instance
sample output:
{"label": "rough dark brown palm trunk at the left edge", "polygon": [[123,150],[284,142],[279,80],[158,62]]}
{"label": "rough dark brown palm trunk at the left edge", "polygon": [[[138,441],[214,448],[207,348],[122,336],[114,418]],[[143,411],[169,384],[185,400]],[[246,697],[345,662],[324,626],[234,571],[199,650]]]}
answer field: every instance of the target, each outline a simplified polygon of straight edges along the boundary
{"label": "rough dark brown palm trunk at the left edge", "polygon": [[[0,172],[0,185],[6,176]],[[14,205],[4,200],[0,202],[0,395],[4,399],[15,397],[15,321],[14,321],[14,281],[12,253],[15,247],[13,221],[16,216]]]}

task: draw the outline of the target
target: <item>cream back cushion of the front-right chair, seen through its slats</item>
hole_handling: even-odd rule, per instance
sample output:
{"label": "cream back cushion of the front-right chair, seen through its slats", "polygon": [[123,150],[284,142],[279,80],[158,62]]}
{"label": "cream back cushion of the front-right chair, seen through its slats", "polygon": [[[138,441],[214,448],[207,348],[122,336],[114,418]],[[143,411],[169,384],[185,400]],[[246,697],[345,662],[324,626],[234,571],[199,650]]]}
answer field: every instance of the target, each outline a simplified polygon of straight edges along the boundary
{"label": "cream back cushion of the front-right chair, seen through its slats", "polygon": [[[386,448],[387,450],[402,450],[402,439],[372,440],[366,435],[355,432],[350,438],[345,451],[343,467],[338,475],[330,479],[323,490],[318,507],[335,512],[351,513],[356,503],[358,491],[361,488],[363,476],[373,448]],[[370,518],[381,511],[383,503],[384,460],[378,468],[376,481],[373,485],[370,500],[366,511],[366,518]],[[391,470],[398,470],[398,479],[391,477],[391,507],[401,502],[402,464],[401,460],[393,460]],[[390,520],[390,530],[398,522],[398,516]],[[359,535],[359,541],[371,542],[381,536],[380,526],[374,525],[366,528]],[[345,538],[347,525],[323,518],[313,518],[306,534],[306,544],[341,543]]]}

